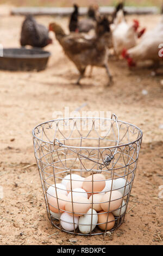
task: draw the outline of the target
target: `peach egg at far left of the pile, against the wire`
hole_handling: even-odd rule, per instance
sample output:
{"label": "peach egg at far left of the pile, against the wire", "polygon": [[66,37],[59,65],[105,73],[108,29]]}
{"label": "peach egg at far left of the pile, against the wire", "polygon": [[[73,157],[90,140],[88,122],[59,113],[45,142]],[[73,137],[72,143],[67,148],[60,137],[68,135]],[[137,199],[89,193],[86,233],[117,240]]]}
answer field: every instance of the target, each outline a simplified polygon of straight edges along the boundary
{"label": "peach egg at far left of the pile, against the wire", "polygon": [[[58,214],[59,212],[61,213],[65,211],[65,204],[68,199],[67,199],[67,196],[65,196],[65,194],[62,194],[62,193],[58,193],[57,196],[58,196],[58,202],[56,197],[50,197],[48,199],[48,203],[49,203],[49,210]],[[58,205],[59,205],[60,211],[58,209]]]}

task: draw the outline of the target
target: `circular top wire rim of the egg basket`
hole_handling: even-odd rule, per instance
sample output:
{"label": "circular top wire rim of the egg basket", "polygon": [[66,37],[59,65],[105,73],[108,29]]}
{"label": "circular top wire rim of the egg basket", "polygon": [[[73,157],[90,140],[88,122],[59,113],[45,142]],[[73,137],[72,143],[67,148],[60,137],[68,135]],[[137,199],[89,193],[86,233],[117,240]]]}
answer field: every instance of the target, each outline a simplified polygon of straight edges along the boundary
{"label": "circular top wire rim of the egg basket", "polygon": [[[54,145],[54,142],[44,141],[43,139],[37,138],[37,137],[35,136],[34,131],[37,129],[37,127],[39,127],[39,126],[41,126],[41,125],[43,125],[43,124],[47,124],[47,123],[54,122],[54,121],[61,121],[61,120],[68,120],[68,119],[70,119],[70,120],[71,120],[71,119],[83,119],[83,118],[85,118],[85,119],[102,119],[102,120],[110,120],[110,121],[112,120],[112,121],[114,121],[114,120],[111,119],[111,118],[100,118],[100,117],[74,117],[74,118],[68,117],[68,118],[52,119],[52,120],[49,120],[49,121],[45,121],[45,122],[43,122],[43,123],[40,123],[39,125],[36,125],[36,126],[33,128],[33,130],[32,130],[32,135],[33,135],[34,138],[38,139],[38,140],[41,141],[41,142],[48,143],[48,144],[50,144],[50,145]],[[126,121],[122,121],[122,120],[117,120],[117,121],[120,122],[120,123],[123,123],[123,124],[128,124],[128,125],[130,125],[130,126],[133,126],[133,127],[135,127],[137,130],[139,130],[139,131],[140,131],[140,136],[139,136],[139,138],[137,138],[135,141],[130,142],[130,143],[125,143],[125,144],[115,145],[115,146],[110,146],[110,147],[77,147],[77,146],[70,146],[70,145],[65,145],[65,144],[62,144],[61,147],[70,148],[70,149],[111,149],[111,148],[124,147],[124,146],[126,146],[126,145],[130,145],[130,144],[136,143],[136,142],[138,142],[138,141],[142,138],[143,132],[142,132],[142,130],[141,130],[138,126],[133,125],[133,124],[131,124],[131,123],[128,123],[128,122],[126,122]],[[57,138],[55,138],[55,139],[57,139]]]}

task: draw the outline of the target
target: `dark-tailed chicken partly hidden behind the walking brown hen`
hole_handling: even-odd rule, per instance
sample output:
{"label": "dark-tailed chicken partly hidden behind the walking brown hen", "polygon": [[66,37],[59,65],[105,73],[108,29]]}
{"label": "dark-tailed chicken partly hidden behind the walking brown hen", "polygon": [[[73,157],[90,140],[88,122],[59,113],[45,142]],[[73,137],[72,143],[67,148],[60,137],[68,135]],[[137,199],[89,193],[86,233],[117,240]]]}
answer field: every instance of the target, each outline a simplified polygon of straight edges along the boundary
{"label": "dark-tailed chicken partly hidden behind the walking brown hen", "polygon": [[70,23],[69,23],[69,30],[70,32],[79,32],[79,33],[87,33],[91,29],[95,29],[96,27],[96,12],[97,7],[94,7],[94,5],[89,7],[89,10],[87,11],[87,18],[79,20],[79,11],[78,11],[78,5],[74,4],[74,11],[71,14],[70,17]]}

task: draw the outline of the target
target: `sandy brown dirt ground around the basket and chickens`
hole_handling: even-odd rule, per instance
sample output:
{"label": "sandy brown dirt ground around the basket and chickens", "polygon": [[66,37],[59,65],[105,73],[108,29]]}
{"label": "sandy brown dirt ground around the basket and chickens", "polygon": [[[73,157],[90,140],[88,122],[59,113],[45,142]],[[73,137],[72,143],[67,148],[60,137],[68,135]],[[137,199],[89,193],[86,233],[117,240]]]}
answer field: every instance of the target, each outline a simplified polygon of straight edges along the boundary
{"label": "sandy brown dirt ground around the basket and chickens", "polygon": [[[6,6],[0,8],[0,43],[19,47],[23,17],[9,16],[9,10]],[[160,17],[138,18],[142,27],[150,29]],[[66,18],[43,16],[37,20],[45,25],[55,20],[67,29]],[[111,59],[114,85],[106,88],[105,70],[94,68],[92,78],[86,76],[82,86],[76,86],[78,72],[58,42],[54,39],[46,50],[52,57],[45,71],[0,71],[0,185],[4,194],[0,199],[0,244],[162,245],[163,199],[159,186],[163,185],[163,70],[153,77],[152,70],[143,64],[130,71],[123,60]],[[73,111],[84,103],[84,111],[111,111],[118,119],[139,126],[143,143],[125,222],[111,236],[76,236],[74,243],[69,241],[74,235],[52,227],[39,173],[36,165],[29,165],[35,163],[33,127],[51,120],[54,111],[64,111],[65,106]]]}

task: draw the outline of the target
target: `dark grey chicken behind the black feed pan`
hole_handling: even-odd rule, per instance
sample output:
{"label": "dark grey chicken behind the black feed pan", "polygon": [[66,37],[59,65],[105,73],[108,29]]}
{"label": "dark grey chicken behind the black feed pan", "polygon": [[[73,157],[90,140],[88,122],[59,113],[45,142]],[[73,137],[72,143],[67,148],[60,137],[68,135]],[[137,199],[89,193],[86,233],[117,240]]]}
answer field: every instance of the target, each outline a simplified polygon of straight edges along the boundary
{"label": "dark grey chicken behind the black feed pan", "polygon": [[32,15],[28,15],[22,24],[21,46],[30,45],[43,48],[52,43],[48,33],[45,26],[38,24]]}

